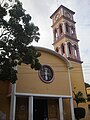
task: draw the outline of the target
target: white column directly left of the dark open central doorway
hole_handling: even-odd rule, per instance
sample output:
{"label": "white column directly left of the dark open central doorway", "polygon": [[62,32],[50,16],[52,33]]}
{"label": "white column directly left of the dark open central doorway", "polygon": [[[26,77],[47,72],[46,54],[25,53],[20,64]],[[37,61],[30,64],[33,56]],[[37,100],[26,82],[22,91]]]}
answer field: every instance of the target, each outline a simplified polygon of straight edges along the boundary
{"label": "white column directly left of the dark open central doorway", "polygon": [[33,96],[29,97],[29,115],[28,120],[33,120]]}

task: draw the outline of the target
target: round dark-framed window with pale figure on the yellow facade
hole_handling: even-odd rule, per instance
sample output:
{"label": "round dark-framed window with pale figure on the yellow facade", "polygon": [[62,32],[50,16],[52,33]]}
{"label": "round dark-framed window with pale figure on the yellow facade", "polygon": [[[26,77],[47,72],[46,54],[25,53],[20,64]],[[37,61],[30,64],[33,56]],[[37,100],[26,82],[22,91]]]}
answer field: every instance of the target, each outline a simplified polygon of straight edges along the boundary
{"label": "round dark-framed window with pale figure on the yellow facade", "polygon": [[45,83],[50,83],[54,79],[53,69],[48,65],[43,65],[39,71],[40,79]]}

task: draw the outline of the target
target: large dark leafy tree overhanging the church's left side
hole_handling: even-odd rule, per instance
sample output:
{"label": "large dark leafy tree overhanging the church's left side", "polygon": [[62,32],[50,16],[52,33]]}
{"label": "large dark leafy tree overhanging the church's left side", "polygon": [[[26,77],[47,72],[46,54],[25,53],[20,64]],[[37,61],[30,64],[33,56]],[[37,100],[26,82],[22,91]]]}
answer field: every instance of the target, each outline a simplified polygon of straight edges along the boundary
{"label": "large dark leafy tree overhanging the church's left side", "polygon": [[17,80],[17,66],[30,64],[41,68],[41,56],[31,43],[39,40],[39,28],[31,22],[19,0],[2,0],[0,3],[0,80]]}

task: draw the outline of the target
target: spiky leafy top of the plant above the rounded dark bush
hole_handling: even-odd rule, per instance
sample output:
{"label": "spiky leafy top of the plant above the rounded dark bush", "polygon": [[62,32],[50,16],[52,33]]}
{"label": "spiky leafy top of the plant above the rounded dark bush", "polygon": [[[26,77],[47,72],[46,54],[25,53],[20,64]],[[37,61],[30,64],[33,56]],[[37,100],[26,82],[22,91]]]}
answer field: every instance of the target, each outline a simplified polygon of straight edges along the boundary
{"label": "spiky leafy top of the plant above the rounded dark bush", "polygon": [[76,102],[77,107],[78,107],[79,103],[86,102],[86,99],[83,97],[83,93],[81,91],[78,91],[77,93],[75,93],[73,91],[73,93],[74,93],[74,98],[73,99]]}

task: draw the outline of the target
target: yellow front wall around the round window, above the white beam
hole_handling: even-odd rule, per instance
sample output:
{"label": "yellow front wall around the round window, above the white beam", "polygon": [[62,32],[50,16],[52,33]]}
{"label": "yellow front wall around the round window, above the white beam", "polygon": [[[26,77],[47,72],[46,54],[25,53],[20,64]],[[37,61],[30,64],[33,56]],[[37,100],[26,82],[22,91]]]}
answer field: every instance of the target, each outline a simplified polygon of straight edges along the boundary
{"label": "yellow front wall around the round window, above the white beam", "polygon": [[50,84],[42,82],[38,75],[38,71],[32,70],[30,66],[23,64],[18,68],[16,92],[70,95],[67,64],[62,59],[53,54],[45,51],[40,52],[42,54],[40,57],[40,62],[44,65],[49,65],[54,71],[53,82]]}

